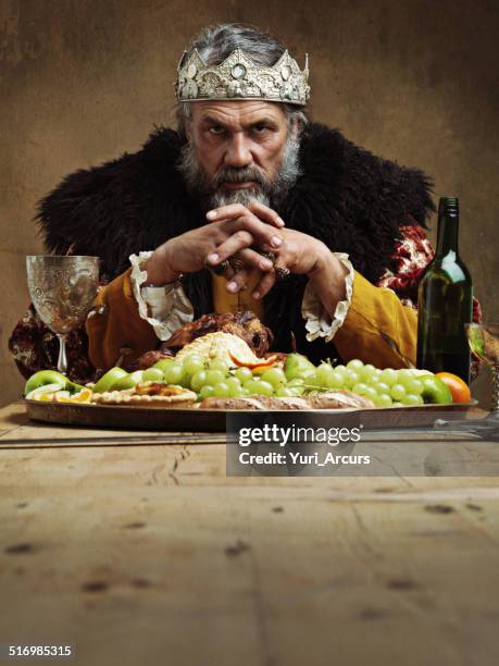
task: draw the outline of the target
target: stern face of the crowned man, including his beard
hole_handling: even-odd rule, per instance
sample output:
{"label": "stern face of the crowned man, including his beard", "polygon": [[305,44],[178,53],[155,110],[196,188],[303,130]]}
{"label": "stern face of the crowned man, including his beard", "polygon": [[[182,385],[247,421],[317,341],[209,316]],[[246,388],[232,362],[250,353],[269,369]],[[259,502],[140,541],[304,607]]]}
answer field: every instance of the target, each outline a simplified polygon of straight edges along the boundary
{"label": "stern face of the crowned man, including his beard", "polygon": [[296,131],[278,103],[192,102],[186,134],[180,170],[209,206],[267,203],[298,174]]}

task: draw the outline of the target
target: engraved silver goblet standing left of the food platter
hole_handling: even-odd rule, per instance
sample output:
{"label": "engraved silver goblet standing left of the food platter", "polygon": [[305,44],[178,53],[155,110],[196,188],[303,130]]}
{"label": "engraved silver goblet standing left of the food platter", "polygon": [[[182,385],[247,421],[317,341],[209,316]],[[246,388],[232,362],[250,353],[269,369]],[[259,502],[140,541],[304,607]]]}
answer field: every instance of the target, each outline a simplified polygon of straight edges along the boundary
{"label": "engraved silver goblet standing left of the food platter", "polygon": [[67,372],[66,335],[85,321],[97,294],[99,257],[26,257],[29,295],[41,321],[59,338],[58,370]]}

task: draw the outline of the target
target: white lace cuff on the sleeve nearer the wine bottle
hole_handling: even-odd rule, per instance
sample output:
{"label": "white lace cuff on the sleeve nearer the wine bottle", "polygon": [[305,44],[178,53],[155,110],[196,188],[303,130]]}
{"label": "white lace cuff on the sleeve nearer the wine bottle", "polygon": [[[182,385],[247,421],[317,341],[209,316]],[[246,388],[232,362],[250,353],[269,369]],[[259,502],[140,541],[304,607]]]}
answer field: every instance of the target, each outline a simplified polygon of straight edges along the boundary
{"label": "white lace cuff on the sleeve nearer the wine bottle", "polygon": [[303,294],[303,300],[301,304],[301,316],[307,319],[307,340],[312,342],[317,337],[324,337],[326,342],[330,342],[335,336],[335,333],[340,329],[344,321],[347,318],[348,310],[352,300],[352,288],[353,288],[353,267],[348,260],[348,255],[344,252],[333,252],[334,256],[348,269],[348,274],[345,278],[345,287],[347,298],[340,300],[336,306],[335,316],[333,321],[324,309],[322,303],[319,300],[315,289],[309,282]]}

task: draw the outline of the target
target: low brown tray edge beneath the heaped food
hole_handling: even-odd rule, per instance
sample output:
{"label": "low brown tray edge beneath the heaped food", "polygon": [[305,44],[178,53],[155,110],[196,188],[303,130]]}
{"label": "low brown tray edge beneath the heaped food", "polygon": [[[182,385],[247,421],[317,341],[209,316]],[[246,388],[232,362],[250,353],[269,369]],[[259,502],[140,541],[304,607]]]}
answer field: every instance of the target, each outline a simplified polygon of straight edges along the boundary
{"label": "low brown tray edge beneath the heaped food", "polygon": [[[226,411],[217,409],[162,409],[161,407],[132,407],[122,405],[67,405],[25,400],[27,416],[35,421],[112,428],[125,430],[162,430],[186,432],[220,432],[225,430]],[[328,427],[414,428],[433,425],[437,418],[473,417],[476,400],[462,405],[425,405],[424,407],[391,407],[377,409],[320,409],[313,414],[327,414]],[[255,414],[251,410],[252,414]],[[261,412],[257,412],[261,414]],[[273,414],[273,412],[269,412]],[[282,414],[276,411],[276,414]],[[286,410],[286,414],[294,414]],[[298,412],[297,412],[298,414]],[[299,410],[299,414],[309,414]],[[479,411],[475,417],[483,416]]]}

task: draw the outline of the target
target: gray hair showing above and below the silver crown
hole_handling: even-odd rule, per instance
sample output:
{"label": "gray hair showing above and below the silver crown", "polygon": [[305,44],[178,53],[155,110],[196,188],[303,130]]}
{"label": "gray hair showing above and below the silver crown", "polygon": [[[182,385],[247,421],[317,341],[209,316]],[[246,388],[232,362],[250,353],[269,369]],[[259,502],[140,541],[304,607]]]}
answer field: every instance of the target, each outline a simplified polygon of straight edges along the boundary
{"label": "gray hair showing above and below the silver crown", "polygon": [[[209,26],[195,37],[190,49],[197,49],[207,65],[219,65],[236,49],[247,53],[257,64],[271,67],[285,52],[285,47],[274,37],[255,27],[237,23],[221,23]],[[185,136],[186,121],[191,119],[190,104],[178,102],[174,114],[178,132]],[[302,130],[309,122],[307,113],[295,106],[283,103],[288,128],[296,126]]]}

